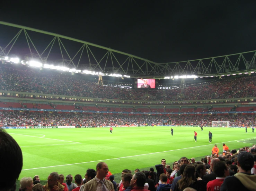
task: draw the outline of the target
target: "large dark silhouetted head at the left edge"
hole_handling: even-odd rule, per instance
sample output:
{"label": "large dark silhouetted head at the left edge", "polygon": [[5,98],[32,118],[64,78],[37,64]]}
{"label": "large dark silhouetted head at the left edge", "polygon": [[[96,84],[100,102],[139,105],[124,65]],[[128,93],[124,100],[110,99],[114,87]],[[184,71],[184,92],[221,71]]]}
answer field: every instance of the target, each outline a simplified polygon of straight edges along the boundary
{"label": "large dark silhouetted head at the left edge", "polygon": [[0,128],[0,161],[0,190],[10,190],[19,178],[23,157],[18,143],[2,128]]}

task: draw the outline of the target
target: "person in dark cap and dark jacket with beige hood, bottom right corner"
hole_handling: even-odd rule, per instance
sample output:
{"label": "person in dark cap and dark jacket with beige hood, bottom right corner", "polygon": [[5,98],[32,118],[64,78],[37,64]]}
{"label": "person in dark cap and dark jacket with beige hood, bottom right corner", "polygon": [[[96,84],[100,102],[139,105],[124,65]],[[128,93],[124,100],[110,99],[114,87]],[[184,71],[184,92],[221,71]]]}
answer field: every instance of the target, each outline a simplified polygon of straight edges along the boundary
{"label": "person in dark cap and dark jacket with beige hood, bottom right corner", "polygon": [[251,168],[254,166],[253,154],[242,151],[237,157],[238,173],[234,176],[226,177],[220,187],[221,191],[241,190],[255,191],[256,190],[256,175],[251,174]]}

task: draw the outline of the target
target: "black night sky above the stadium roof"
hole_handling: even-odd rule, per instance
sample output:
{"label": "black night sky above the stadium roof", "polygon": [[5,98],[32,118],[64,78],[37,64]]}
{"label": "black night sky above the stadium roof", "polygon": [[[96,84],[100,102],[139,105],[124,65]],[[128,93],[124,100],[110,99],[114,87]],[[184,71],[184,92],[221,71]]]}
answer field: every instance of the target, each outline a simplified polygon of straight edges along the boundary
{"label": "black night sky above the stadium roof", "polygon": [[0,20],[156,62],[256,49],[255,0],[37,2],[3,1]]}

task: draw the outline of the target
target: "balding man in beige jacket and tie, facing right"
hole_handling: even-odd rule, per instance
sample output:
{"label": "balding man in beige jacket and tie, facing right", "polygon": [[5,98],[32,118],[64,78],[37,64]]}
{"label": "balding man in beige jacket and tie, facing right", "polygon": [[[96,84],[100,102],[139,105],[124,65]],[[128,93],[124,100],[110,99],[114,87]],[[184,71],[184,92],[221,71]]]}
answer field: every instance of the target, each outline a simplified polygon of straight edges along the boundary
{"label": "balding man in beige jacket and tie, facing right", "polygon": [[99,162],[96,165],[96,176],[89,182],[86,182],[83,191],[114,191],[114,185],[111,181],[106,180],[108,166],[105,162]]}

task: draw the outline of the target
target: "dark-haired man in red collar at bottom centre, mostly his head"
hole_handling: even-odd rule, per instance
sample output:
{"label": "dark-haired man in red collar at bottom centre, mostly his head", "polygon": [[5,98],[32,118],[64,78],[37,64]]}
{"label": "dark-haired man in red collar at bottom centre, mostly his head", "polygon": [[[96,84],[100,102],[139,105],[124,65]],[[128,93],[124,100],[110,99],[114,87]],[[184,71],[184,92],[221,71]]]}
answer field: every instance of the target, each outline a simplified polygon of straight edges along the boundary
{"label": "dark-haired man in red collar at bottom centre, mostly his head", "polygon": [[145,182],[146,182],[146,175],[142,172],[136,172],[132,177],[130,186],[132,187],[132,190],[148,191],[144,189]]}

